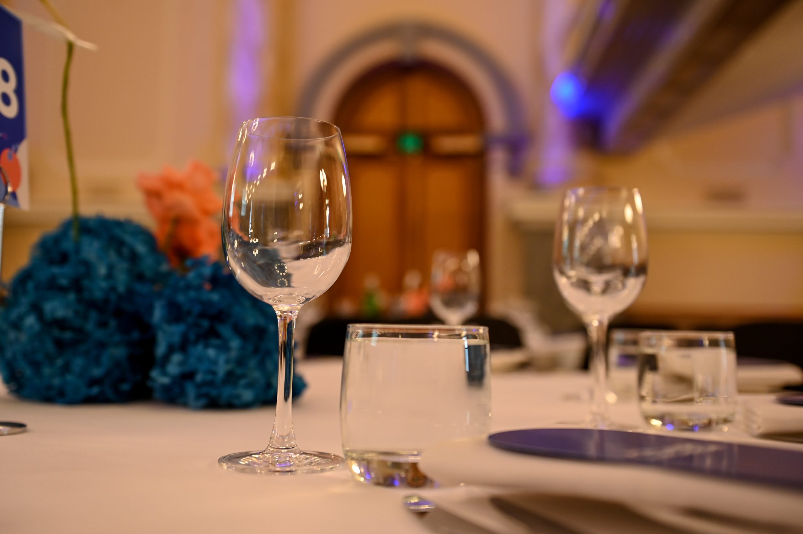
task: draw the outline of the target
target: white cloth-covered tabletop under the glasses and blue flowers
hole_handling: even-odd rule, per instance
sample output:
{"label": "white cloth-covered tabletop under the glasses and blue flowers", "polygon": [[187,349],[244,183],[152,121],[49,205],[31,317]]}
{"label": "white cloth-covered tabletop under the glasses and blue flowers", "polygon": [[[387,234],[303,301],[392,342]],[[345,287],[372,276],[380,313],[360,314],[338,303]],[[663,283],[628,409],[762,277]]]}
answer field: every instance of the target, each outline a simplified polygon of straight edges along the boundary
{"label": "white cloth-covered tabletop under the glasses and blue flowers", "polygon": [[[298,366],[309,384],[293,412],[303,448],[341,450],[340,365]],[[498,373],[491,383],[493,430],[548,426],[588,410],[566,400],[587,387],[583,373]],[[218,467],[221,455],[267,444],[272,411],[57,406],[2,390],[0,420],[29,430],[0,437],[0,532],[428,532],[402,508],[414,491],[357,483],[344,469],[259,476]],[[612,406],[611,415],[641,422],[634,403]],[[716,437],[757,441],[735,429]]]}

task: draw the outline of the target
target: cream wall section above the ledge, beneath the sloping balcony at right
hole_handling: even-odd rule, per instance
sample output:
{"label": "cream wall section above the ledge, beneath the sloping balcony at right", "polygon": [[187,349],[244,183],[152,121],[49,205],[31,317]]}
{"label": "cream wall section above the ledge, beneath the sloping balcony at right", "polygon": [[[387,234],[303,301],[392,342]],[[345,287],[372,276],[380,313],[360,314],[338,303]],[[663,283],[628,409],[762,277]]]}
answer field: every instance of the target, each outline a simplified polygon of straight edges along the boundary
{"label": "cream wall section above the ledge, beneath the sloping balcony at right", "polygon": [[601,180],[638,185],[657,206],[803,210],[803,95],[658,139],[629,157],[597,157]]}

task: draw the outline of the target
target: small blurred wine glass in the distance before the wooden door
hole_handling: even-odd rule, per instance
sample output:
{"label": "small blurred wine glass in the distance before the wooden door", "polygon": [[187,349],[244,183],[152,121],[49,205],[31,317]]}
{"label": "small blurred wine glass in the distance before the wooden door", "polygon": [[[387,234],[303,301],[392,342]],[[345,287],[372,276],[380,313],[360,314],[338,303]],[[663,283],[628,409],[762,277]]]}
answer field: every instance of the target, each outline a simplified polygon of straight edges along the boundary
{"label": "small blurred wine glass in the distance before the wooden door", "polygon": [[446,324],[463,324],[479,309],[479,252],[436,251],[432,256],[430,306]]}

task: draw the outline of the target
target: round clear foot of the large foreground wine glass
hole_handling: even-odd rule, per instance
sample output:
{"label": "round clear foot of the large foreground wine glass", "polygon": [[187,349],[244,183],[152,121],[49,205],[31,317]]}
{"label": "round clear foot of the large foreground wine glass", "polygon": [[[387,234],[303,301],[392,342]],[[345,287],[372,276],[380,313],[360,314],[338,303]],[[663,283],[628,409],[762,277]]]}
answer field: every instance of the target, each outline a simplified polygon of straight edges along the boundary
{"label": "round clear foot of the large foreground wine glass", "polygon": [[331,471],[342,466],[342,456],[314,450],[251,450],[222,456],[218,464],[255,475],[302,475]]}

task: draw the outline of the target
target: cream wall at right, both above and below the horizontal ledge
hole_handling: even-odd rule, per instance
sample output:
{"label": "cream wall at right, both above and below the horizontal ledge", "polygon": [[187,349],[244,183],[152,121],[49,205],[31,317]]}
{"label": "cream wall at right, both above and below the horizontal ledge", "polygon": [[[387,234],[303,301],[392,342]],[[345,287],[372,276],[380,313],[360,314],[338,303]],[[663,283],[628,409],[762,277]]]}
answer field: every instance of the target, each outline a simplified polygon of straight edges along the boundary
{"label": "cream wall at right, both above and below the horizontal ledge", "polygon": [[[803,96],[593,161],[600,181],[638,186],[648,213],[794,217],[803,214]],[[650,276],[632,312],[803,316],[803,229],[739,226],[651,232]]]}

